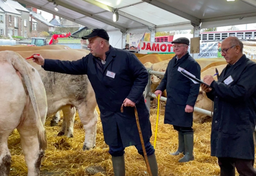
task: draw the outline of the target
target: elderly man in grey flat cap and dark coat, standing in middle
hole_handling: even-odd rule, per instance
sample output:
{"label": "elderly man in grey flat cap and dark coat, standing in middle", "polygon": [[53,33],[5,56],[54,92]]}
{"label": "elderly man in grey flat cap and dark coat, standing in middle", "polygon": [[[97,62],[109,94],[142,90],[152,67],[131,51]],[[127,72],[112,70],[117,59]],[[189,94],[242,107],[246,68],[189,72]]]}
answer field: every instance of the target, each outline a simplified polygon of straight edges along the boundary
{"label": "elderly man in grey flat cap and dark coat, standing in middle", "polygon": [[185,155],[178,161],[189,162],[194,160],[193,111],[200,84],[194,84],[181,71],[188,71],[200,79],[201,69],[187,51],[189,39],[177,38],[172,44],[174,44],[172,47],[176,55],[168,63],[165,75],[154,94],[161,96],[163,90],[166,89],[167,101],[164,123],[174,125],[174,129],[178,131],[178,149],[171,155],[183,153]]}

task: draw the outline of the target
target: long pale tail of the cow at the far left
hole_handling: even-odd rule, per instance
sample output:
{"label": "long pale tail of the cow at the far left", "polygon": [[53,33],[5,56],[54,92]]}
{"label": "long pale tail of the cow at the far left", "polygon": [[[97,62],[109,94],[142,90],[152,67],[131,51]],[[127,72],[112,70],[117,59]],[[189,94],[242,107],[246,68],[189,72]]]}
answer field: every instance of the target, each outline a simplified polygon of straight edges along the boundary
{"label": "long pale tail of the cow at the far left", "polygon": [[[14,52],[16,53],[16,52]],[[27,92],[30,96],[32,106],[34,109],[34,112],[36,114],[36,127],[38,128],[38,142],[39,142],[39,147],[40,149],[45,150],[47,148],[47,140],[46,140],[46,135],[45,135],[45,128],[43,126],[43,123],[40,118],[40,112],[38,109],[38,104],[36,102],[36,95],[34,93],[32,81],[30,78],[29,71],[27,70],[27,63],[25,60],[19,55],[19,53],[16,53],[18,59],[12,60],[12,65],[16,70],[18,70],[21,75],[23,76],[23,79],[25,81],[25,85],[27,87]]]}

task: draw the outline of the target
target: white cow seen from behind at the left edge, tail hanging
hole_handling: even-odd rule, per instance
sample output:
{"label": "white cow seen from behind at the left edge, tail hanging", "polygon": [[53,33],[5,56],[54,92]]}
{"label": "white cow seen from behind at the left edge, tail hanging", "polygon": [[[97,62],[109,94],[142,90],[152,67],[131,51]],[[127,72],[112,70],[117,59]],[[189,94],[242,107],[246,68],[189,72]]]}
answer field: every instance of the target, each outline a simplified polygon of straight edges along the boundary
{"label": "white cow seen from behind at the left edge, tail hanging", "polygon": [[0,52],[0,102],[0,175],[10,173],[8,137],[15,128],[21,136],[27,175],[39,175],[47,146],[45,88],[38,71],[14,51]]}

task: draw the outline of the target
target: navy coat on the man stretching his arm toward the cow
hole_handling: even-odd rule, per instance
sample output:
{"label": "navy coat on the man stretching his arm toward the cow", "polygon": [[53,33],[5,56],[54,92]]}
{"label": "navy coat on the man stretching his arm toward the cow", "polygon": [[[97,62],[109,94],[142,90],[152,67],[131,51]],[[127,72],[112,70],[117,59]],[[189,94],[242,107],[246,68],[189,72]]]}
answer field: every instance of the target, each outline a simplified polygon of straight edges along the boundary
{"label": "navy coat on the man stretching his arm toward the cow", "polygon": [[[88,75],[100,109],[106,144],[117,145],[117,127],[124,147],[141,143],[134,108],[124,107],[124,112],[120,111],[126,98],[136,103],[143,140],[148,141],[152,131],[150,115],[143,98],[143,91],[148,84],[146,68],[133,53],[111,46],[103,73],[97,68],[96,60],[91,53],[72,62],[46,59],[43,68],[58,73]],[[108,77],[107,71],[115,73],[115,78]]]}

